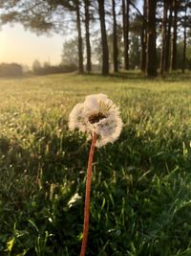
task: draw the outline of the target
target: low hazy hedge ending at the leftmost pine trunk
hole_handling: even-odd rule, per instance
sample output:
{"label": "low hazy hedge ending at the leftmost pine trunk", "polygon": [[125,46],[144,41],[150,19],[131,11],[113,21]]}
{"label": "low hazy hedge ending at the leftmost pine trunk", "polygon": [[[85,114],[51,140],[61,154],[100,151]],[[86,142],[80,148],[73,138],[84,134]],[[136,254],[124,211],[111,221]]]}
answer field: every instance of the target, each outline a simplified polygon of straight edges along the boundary
{"label": "low hazy hedge ending at the leftmost pine trunk", "polygon": [[69,64],[69,65],[61,64],[57,66],[45,65],[43,67],[35,66],[35,68],[33,67],[33,73],[35,75],[40,75],[40,76],[49,75],[49,74],[70,73],[70,72],[74,72],[75,70],[77,70],[77,67],[74,64]]}

